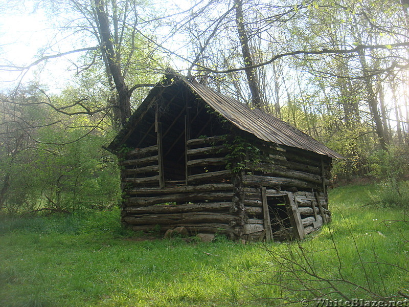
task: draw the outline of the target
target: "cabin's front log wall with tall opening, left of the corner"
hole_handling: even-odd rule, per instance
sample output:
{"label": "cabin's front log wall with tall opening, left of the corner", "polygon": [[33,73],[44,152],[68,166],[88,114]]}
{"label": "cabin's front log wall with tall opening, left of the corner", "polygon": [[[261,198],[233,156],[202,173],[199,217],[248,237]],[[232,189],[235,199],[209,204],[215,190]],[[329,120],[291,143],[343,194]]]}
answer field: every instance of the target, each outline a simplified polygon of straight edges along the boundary
{"label": "cabin's front log wall with tall opening, left of the corner", "polygon": [[166,181],[160,186],[158,146],[124,155],[122,222],[134,230],[184,226],[191,234],[220,232],[237,238],[242,224],[233,202],[237,189],[231,183],[231,170],[225,169],[221,141],[216,136],[186,142],[187,184]]}

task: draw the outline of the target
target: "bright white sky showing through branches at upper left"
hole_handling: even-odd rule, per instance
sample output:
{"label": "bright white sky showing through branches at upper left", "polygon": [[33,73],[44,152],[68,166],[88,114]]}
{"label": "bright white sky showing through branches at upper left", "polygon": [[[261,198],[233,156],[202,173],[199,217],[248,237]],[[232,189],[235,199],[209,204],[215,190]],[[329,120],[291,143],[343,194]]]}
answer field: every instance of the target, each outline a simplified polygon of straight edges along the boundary
{"label": "bright white sky showing through branches at upper left", "polygon": [[[189,0],[170,2],[175,6],[177,2],[177,6],[182,8],[190,7]],[[52,37],[51,20],[47,20],[46,12],[35,9],[33,3],[30,0],[0,0],[0,65],[2,65],[0,91],[13,89],[19,80],[22,83],[37,80],[41,83],[52,84],[48,91],[57,94],[70,83],[70,78],[75,75],[75,71],[67,72],[66,70],[70,66],[70,57],[48,60],[47,65],[36,65],[29,71],[25,71],[24,75],[20,71],[13,71],[3,66],[29,65],[38,58],[37,55],[41,48],[54,42],[50,41]],[[173,45],[177,44],[173,43]],[[72,49],[73,46],[60,45],[59,51]],[[72,55],[71,59],[74,60],[76,56]],[[181,65],[181,63],[176,60],[175,65]]]}

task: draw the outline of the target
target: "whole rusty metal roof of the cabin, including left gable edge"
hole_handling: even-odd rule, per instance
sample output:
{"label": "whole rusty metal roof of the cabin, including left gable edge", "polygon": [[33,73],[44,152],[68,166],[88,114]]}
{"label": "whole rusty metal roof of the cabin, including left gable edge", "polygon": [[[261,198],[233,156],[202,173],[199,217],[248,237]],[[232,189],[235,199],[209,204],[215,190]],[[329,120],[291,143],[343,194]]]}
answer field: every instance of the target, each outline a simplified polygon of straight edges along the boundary
{"label": "whole rusty metal roof of the cabin, including left gable edge", "polygon": [[[331,158],[343,159],[343,157],[337,152],[314,140],[312,137],[306,135],[299,129],[296,129],[286,122],[261,111],[261,109],[251,109],[237,100],[219,94],[209,89],[209,87],[197,83],[193,79],[181,77],[180,75],[176,74],[167,74],[166,78],[168,78],[168,80],[171,79],[173,81],[172,84],[180,84],[181,81],[188,85],[196,95],[198,95],[222,117],[239,129],[253,134],[260,140],[276,143],[278,145],[313,151]],[[138,107],[137,111],[135,111],[135,113],[130,117],[129,122],[123,129],[121,129],[107,149],[114,150],[115,148],[118,148],[119,145],[126,142],[127,138],[135,129],[135,125],[137,125],[141,117],[143,117],[143,111],[149,107],[155,95],[159,94],[165,88],[166,86],[164,86],[162,82],[157,83],[144,102],[142,102],[142,104]]]}

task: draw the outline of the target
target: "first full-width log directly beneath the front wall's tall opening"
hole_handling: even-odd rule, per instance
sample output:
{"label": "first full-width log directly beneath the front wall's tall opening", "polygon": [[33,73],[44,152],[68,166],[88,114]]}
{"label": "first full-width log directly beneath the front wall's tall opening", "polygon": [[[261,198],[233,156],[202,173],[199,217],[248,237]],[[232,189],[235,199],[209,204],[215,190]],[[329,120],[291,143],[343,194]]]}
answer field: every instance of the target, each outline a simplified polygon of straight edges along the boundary
{"label": "first full-width log directly beneath the front wall's tall opening", "polygon": [[233,184],[230,183],[210,183],[202,185],[178,185],[159,187],[141,187],[127,190],[132,194],[166,194],[166,193],[183,193],[183,192],[205,192],[205,191],[232,191]]}

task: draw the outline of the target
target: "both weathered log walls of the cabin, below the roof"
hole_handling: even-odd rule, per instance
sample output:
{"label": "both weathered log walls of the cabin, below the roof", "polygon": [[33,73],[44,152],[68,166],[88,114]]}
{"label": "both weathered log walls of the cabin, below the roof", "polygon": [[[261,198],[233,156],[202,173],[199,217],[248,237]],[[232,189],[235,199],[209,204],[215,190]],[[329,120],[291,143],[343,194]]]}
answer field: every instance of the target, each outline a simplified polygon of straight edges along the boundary
{"label": "both weathered log walls of the cabin, below the roof", "polygon": [[[186,140],[185,183],[165,182],[160,145],[123,154],[122,222],[134,230],[185,226],[191,234],[277,240],[303,238],[330,221],[328,159],[257,141],[259,159],[247,159],[246,169],[232,173],[226,164],[237,161],[226,158],[225,142],[226,136]],[[283,221],[272,208],[281,210]]]}

